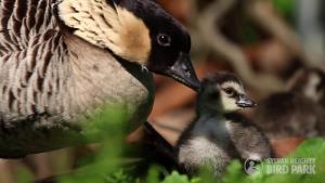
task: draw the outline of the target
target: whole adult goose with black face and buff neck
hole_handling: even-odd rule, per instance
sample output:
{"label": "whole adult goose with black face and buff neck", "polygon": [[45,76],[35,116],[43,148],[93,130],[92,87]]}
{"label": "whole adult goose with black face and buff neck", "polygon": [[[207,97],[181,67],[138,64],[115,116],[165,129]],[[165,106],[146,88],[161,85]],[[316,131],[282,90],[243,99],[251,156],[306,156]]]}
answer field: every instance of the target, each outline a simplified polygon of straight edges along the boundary
{"label": "whole adult goose with black face and buff neck", "polygon": [[145,67],[198,87],[187,32],[151,0],[0,0],[0,18],[1,157],[82,143],[78,121],[104,104],[144,121]]}

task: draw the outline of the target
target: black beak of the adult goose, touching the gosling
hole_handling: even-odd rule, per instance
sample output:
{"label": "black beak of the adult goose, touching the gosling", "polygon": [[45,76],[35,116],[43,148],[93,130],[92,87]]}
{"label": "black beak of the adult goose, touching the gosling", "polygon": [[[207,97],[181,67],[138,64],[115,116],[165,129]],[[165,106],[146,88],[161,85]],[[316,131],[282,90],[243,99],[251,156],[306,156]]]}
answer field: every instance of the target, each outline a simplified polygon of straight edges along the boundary
{"label": "black beak of the adult goose, touching the gosling", "polygon": [[200,82],[186,53],[181,53],[178,61],[166,70],[165,75],[170,76],[197,92],[200,90]]}

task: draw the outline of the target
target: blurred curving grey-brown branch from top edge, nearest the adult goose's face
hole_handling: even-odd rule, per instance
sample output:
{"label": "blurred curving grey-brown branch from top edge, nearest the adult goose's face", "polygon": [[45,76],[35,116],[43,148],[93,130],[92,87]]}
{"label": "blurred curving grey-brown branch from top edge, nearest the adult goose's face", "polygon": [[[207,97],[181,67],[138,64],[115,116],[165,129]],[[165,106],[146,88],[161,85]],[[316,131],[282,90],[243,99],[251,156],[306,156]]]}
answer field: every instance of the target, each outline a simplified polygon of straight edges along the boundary
{"label": "blurred curving grey-brown branch from top edge, nearest the adult goose's face", "polygon": [[272,76],[257,75],[249,66],[249,61],[238,45],[232,43],[220,31],[217,26],[220,26],[221,18],[224,17],[237,2],[237,0],[218,0],[210,4],[198,17],[198,29],[200,37],[210,49],[227,60],[234,70],[247,84],[262,91],[264,94],[270,92],[281,91],[284,89],[284,83]]}

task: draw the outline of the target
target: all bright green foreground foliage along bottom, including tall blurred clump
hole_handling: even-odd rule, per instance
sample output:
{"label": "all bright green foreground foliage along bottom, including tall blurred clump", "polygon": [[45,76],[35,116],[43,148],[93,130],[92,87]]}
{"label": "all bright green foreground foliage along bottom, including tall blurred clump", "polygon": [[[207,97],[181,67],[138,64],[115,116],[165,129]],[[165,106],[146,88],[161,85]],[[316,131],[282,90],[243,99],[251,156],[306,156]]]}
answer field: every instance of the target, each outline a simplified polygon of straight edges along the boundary
{"label": "all bright green foreground foliage along bottom, including tall blurred clump", "polygon": [[[258,171],[252,175],[247,175],[243,171],[243,165],[238,160],[234,160],[227,168],[225,174],[221,179],[213,179],[207,171],[203,171],[200,175],[190,178],[180,174],[177,171],[168,173],[161,167],[152,166],[143,177],[132,173],[132,169],[138,169],[136,160],[128,160],[123,157],[126,147],[123,144],[123,125],[121,123],[103,123],[105,119],[118,119],[126,117],[126,114],[120,113],[122,109],[104,110],[90,119],[89,123],[98,123],[100,128],[105,128],[103,134],[103,146],[101,151],[88,160],[90,165],[76,170],[74,173],[58,179],[58,183],[321,183],[324,181],[325,174],[325,140],[314,139],[306,141],[291,156],[291,158],[315,158],[316,174],[266,174],[263,171]],[[109,135],[108,135],[109,134]],[[145,158],[143,158],[145,160]],[[261,164],[263,166],[263,162]],[[262,168],[260,167],[262,170]],[[28,173],[22,171],[22,179],[28,182]],[[26,179],[25,179],[26,178]]]}

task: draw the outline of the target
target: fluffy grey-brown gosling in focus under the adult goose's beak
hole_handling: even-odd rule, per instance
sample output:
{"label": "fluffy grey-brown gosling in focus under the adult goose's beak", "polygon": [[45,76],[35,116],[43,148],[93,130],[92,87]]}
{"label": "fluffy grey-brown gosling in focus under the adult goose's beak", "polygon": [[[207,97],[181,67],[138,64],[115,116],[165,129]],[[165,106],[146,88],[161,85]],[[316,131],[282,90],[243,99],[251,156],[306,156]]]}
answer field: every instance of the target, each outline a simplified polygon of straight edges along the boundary
{"label": "fluffy grey-brown gosling in focus under the adult goose's beak", "polygon": [[176,159],[188,174],[208,168],[220,177],[231,160],[262,160],[271,156],[264,134],[243,115],[253,107],[243,84],[233,74],[217,73],[202,81],[196,119],[184,130],[176,146]]}

